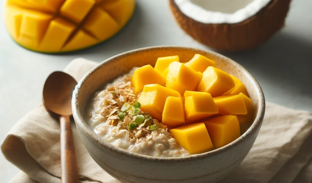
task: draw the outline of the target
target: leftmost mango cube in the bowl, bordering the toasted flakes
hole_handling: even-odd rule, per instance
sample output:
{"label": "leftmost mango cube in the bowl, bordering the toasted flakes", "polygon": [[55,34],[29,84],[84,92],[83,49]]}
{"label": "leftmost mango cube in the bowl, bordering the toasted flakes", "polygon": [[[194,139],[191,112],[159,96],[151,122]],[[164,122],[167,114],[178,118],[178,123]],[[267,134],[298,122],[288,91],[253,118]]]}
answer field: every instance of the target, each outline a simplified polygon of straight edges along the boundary
{"label": "leftmost mango cube in the bowl, bordering the toasted flakes", "polygon": [[162,77],[151,65],[137,68],[131,78],[132,85],[137,93],[142,92],[144,85],[166,85],[166,79]]}

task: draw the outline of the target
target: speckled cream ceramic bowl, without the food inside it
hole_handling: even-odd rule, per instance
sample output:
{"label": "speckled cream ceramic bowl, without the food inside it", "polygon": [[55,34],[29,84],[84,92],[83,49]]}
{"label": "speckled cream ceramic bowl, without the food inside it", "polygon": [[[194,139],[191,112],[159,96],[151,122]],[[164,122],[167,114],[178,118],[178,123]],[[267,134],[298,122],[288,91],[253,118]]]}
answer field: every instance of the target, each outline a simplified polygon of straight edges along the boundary
{"label": "speckled cream ceramic bowl, without the food inside it", "polygon": [[[151,64],[158,57],[178,55],[181,62],[199,53],[216,61],[216,67],[238,77],[246,86],[255,110],[254,122],[238,139],[219,149],[188,157],[144,156],[112,146],[97,136],[83,119],[87,99],[98,87],[123,75],[134,66]],[[260,130],[265,100],[255,78],[241,65],[215,52],[187,47],[141,48],[111,57],[88,72],[76,86],[72,98],[73,116],[85,147],[107,173],[124,183],[217,182],[238,166],[250,151]]]}

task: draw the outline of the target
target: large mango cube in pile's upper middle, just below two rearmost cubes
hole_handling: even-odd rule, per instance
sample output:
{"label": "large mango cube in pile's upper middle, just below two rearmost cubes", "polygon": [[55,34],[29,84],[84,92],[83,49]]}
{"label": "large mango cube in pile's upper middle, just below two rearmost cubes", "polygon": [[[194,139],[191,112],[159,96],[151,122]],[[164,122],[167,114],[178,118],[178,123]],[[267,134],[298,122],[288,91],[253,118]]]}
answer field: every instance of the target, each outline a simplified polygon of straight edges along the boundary
{"label": "large mango cube in pile's upper middle, just below two rearmost cubes", "polygon": [[172,62],[168,67],[166,87],[183,95],[186,90],[195,91],[201,79],[202,73],[195,72],[180,62]]}

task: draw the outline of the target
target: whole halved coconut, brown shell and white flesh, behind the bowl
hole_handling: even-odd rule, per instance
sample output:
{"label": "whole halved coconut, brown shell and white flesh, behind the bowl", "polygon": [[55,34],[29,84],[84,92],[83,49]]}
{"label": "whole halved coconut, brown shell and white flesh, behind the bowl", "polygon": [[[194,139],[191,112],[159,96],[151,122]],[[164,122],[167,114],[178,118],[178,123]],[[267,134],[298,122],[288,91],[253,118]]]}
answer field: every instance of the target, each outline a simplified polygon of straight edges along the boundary
{"label": "whole halved coconut, brown shell and white flesh, behind the bowl", "polygon": [[220,51],[261,45],[284,26],[290,0],[169,0],[179,26]]}

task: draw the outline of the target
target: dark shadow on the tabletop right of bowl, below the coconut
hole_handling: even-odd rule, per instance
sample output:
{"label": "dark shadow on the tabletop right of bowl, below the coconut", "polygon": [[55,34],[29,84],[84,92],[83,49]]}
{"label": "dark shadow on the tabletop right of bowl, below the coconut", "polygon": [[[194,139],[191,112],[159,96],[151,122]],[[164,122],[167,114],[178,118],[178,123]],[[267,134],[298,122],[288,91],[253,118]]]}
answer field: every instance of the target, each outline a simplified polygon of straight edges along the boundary
{"label": "dark shadow on the tabletop right of bowl, below the coconut", "polygon": [[298,94],[312,98],[312,42],[279,32],[256,49],[220,53],[240,63],[255,77],[264,77],[256,77],[257,80],[266,79],[285,89],[293,87]]}

